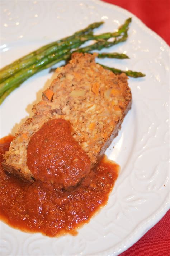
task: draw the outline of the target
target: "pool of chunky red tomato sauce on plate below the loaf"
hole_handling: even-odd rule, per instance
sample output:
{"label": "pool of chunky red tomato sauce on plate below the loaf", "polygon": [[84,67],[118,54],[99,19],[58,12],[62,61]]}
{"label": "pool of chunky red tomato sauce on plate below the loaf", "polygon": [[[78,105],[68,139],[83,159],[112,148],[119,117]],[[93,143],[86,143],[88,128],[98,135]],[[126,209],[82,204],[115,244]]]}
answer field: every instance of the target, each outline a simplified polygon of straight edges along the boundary
{"label": "pool of chunky red tomato sauce on plate below the loaf", "polygon": [[[12,139],[0,140],[1,162]],[[119,166],[104,157],[79,185],[59,191],[49,183],[20,180],[0,164],[0,219],[25,232],[76,235],[76,229],[107,203],[118,172]]]}

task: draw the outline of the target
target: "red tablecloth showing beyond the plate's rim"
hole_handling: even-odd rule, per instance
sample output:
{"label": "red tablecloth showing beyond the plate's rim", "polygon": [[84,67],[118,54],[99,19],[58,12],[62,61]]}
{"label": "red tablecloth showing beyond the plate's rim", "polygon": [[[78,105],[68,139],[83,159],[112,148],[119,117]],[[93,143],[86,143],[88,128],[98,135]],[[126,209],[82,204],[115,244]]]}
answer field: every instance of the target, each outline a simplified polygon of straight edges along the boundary
{"label": "red tablecloth showing beyond the plate's rim", "polygon": [[[103,0],[127,9],[170,44],[170,0]],[[170,256],[170,211],[120,256]]]}

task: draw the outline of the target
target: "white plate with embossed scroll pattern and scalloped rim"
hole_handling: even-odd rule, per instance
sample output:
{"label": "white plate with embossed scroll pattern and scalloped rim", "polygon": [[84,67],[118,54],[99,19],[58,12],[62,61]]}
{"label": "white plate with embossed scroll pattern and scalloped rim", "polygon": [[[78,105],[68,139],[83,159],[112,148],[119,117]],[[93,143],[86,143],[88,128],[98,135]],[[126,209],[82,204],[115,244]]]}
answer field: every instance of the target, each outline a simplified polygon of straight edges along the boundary
{"label": "white plate with embossed scroll pattern and scalloped rim", "polygon": [[[117,255],[143,236],[169,208],[169,47],[133,14],[99,1],[1,1],[1,66],[48,42],[104,20],[96,33],[115,31],[133,17],[126,42],[107,51],[129,60],[105,65],[146,74],[129,79],[132,109],[107,155],[121,166],[109,202],[75,237],[44,237],[1,223],[1,255]],[[104,50],[105,51],[105,50]],[[14,133],[49,84],[33,76],[1,105],[1,134]],[[114,148],[113,148],[114,146]]]}

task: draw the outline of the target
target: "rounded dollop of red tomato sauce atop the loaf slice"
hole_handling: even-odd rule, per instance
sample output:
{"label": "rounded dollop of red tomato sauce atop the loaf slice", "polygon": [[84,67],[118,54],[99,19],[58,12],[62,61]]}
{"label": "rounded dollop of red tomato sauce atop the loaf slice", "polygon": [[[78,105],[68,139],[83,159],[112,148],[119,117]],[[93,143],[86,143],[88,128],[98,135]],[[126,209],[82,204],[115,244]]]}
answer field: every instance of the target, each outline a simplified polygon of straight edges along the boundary
{"label": "rounded dollop of red tomato sauce atop the loaf slice", "polygon": [[31,137],[27,166],[36,180],[51,182],[57,189],[76,186],[90,172],[90,160],[71,136],[71,124],[53,119]]}

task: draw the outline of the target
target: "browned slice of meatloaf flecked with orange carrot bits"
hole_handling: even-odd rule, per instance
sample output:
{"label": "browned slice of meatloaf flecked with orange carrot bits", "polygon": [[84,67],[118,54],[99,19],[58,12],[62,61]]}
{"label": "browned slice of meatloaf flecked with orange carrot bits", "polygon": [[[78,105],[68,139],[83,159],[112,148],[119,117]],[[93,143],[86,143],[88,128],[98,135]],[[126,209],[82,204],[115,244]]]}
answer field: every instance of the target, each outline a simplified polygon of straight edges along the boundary
{"label": "browned slice of meatloaf flecked with orange carrot bits", "polygon": [[131,100],[125,74],[115,75],[96,64],[94,54],[72,54],[67,65],[57,68],[56,79],[33,106],[34,116],[15,134],[4,155],[3,168],[33,181],[26,164],[29,140],[45,122],[56,118],[70,121],[72,136],[93,168],[117,135]]}

